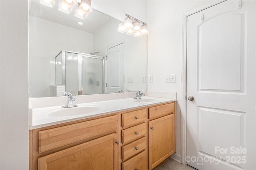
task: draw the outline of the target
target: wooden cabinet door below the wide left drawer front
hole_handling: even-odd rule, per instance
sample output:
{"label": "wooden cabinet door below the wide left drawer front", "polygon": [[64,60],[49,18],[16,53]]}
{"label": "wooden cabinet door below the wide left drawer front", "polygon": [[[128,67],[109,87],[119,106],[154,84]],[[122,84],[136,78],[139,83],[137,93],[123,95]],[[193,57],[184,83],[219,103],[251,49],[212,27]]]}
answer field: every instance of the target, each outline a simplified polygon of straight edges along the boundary
{"label": "wooden cabinet door below the wide left drawer front", "polygon": [[38,158],[38,170],[117,170],[117,133]]}

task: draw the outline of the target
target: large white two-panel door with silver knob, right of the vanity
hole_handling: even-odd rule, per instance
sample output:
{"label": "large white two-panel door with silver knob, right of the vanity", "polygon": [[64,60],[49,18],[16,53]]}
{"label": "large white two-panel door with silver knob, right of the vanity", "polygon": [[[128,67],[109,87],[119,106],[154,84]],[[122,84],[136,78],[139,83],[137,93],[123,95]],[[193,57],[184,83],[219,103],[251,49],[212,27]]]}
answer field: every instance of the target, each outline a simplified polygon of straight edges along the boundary
{"label": "large white two-panel door with silver knob, right of the vanity", "polygon": [[198,170],[256,169],[256,3],[240,2],[188,16],[186,161]]}

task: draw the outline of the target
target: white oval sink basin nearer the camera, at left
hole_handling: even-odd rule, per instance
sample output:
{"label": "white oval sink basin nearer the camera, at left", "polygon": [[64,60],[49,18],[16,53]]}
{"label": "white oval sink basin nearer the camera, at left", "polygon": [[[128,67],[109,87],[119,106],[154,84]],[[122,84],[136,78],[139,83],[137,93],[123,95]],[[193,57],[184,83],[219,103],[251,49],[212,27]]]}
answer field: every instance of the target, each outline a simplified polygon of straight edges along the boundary
{"label": "white oval sink basin nearer the camera, at left", "polygon": [[75,116],[75,115],[83,115],[86,113],[92,113],[94,111],[99,111],[100,107],[94,106],[84,106],[84,107],[70,107],[60,109],[58,111],[53,111],[49,113],[51,117],[64,117],[64,116]]}

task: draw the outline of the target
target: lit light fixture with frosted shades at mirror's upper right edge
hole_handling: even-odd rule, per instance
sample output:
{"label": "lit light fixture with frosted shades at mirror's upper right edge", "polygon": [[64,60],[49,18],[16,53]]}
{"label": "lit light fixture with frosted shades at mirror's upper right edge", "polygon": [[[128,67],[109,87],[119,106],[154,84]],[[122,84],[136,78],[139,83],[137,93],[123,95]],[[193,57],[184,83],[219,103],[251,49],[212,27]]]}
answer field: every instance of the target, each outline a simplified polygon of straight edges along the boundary
{"label": "lit light fixture with frosted shades at mirror's upper right edge", "polygon": [[148,34],[148,26],[145,22],[142,22],[128,14],[124,14],[127,18],[124,22],[120,22],[117,31],[128,35],[134,35],[134,37],[142,37]]}

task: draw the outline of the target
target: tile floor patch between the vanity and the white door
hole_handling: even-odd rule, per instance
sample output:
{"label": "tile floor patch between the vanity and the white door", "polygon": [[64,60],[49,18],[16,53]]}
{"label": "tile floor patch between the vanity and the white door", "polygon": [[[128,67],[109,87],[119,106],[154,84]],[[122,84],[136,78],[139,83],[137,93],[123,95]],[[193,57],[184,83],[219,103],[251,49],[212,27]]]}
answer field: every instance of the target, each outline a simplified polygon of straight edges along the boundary
{"label": "tile floor patch between the vanity and the white door", "polygon": [[180,164],[172,158],[168,158],[162,164],[157,166],[154,170],[194,170],[190,166]]}

